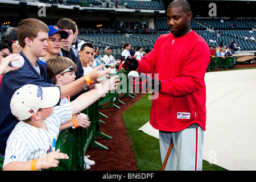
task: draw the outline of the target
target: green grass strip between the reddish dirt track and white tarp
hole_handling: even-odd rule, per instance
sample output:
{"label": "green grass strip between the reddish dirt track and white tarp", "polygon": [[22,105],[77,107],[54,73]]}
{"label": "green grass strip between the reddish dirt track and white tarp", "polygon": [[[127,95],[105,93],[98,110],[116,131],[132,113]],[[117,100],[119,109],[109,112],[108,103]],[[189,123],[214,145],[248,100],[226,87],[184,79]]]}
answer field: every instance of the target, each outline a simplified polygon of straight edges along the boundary
{"label": "green grass strip between the reddish dirt track and white tarp", "polygon": [[[146,94],[141,100],[123,113],[123,122],[131,140],[137,168],[139,171],[160,171],[162,162],[160,159],[159,140],[139,131],[150,119],[152,100],[148,100],[150,94]],[[203,171],[225,171],[226,169],[203,161]]]}

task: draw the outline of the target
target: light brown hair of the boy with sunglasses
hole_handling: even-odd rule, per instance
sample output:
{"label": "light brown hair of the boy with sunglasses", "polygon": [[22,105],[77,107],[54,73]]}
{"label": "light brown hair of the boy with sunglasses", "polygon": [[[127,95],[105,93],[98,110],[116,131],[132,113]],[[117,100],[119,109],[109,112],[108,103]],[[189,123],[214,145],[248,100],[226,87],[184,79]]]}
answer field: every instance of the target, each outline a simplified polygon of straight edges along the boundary
{"label": "light brown hair of the boy with sunglasses", "polygon": [[76,64],[68,57],[57,56],[51,57],[46,63],[47,76],[56,83],[56,75],[63,72],[65,69],[73,65],[74,72],[77,70]]}

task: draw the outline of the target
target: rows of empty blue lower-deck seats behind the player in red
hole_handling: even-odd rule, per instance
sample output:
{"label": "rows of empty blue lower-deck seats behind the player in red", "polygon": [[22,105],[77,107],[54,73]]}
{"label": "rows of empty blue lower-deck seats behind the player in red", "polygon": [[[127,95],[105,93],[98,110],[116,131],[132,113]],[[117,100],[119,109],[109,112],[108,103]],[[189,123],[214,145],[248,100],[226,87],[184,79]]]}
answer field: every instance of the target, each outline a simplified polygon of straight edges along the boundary
{"label": "rows of empty blue lower-deck seats behind the player in red", "polygon": [[[237,42],[241,47],[241,51],[253,51],[256,50],[256,42],[253,40],[246,41],[245,36],[254,36],[256,38],[256,32],[251,30],[251,27],[246,23],[253,22],[254,19],[246,19],[247,21],[230,20],[228,22],[220,22],[221,18],[195,18],[191,20],[192,30],[200,33],[209,46],[217,47],[222,40],[224,40],[224,46],[228,47],[231,40]],[[92,42],[94,46],[97,46],[102,54],[105,54],[105,47],[112,46],[112,54],[115,58],[119,58],[123,50],[121,42],[129,42],[135,49],[141,46],[144,49],[154,47],[154,43],[161,34],[167,34],[170,32],[167,24],[167,18],[155,18],[156,30],[159,30],[159,34],[133,34],[133,31],[127,31],[129,36],[121,36],[113,32],[108,33],[82,33],[79,38],[85,42]],[[230,27],[230,24],[236,24],[235,28]],[[251,23],[252,24],[252,23]],[[221,36],[217,36],[216,32],[221,32]],[[126,35],[127,35],[126,34]],[[210,42],[210,39],[215,39],[216,42]]]}

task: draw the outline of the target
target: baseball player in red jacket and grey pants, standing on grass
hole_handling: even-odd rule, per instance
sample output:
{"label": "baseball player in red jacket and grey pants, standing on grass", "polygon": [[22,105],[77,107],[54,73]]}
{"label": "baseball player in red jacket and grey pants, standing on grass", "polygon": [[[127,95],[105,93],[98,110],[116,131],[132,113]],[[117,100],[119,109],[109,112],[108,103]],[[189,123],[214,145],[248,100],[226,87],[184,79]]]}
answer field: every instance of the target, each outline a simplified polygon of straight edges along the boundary
{"label": "baseball player in red jacket and grey pants, standing on grass", "polygon": [[[158,74],[152,82],[159,95],[152,100],[150,124],[159,130],[162,162],[172,139],[165,170],[201,170],[206,123],[205,71],[210,62],[208,44],[191,30],[191,7],[176,0],[167,8],[171,34],[159,36],[141,61],[128,57],[126,70]],[[155,93],[156,94],[156,93]]]}

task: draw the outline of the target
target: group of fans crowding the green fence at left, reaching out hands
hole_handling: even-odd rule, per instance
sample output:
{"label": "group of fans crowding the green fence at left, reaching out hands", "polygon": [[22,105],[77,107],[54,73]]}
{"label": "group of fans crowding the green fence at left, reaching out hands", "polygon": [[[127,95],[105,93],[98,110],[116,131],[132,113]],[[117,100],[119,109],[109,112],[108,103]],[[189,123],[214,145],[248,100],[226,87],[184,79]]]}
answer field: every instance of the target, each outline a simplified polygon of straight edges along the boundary
{"label": "group of fans crowding the green fence at left, reaching out hands", "polygon": [[[117,76],[106,79],[111,68],[106,68],[102,59],[96,65],[94,59],[98,55],[93,44],[83,43],[79,51],[75,48],[77,33],[76,23],[68,18],[60,19],[55,26],[28,18],[2,35],[0,100],[5,104],[0,109],[0,157],[5,157],[3,169],[47,169],[56,167],[56,159],[68,159],[60,150],[53,150],[53,140],[68,127],[87,129],[90,125],[88,115],[80,114],[80,111],[116,88]],[[24,65],[11,67],[9,63],[19,60],[18,56],[23,57]],[[51,92],[47,93],[46,88],[51,88]],[[26,95],[28,92],[31,97]],[[42,99],[38,101],[38,98]],[[54,111],[52,106],[56,107]],[[56,113],[55,110],[59,111]],[[53,126],[51,123],[55,120]],[[39,131],[44,129],[46,136],[42,137],[38,130],[29,133],[27,130],[31,130],[31,126]],[[23,127],[22,133],[20,127]],[[24,134],[26,132],[28,134]],[[22,135],[27,135],[27,139]],[[31,140],[40,140],[44,144],[40,146],[36,141],[30,146]],[[14,144],[17,141],[18,144]],[[20,154],[22,150],[26,150],[26,154]],[[40,165],[46,158],[47,162]],[[94,164],[89,158],[87,154],[84,156],[86,169]]]}

